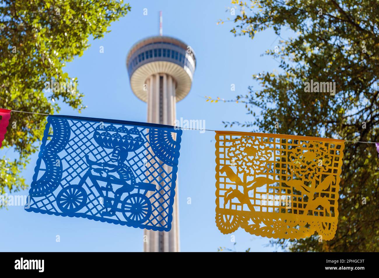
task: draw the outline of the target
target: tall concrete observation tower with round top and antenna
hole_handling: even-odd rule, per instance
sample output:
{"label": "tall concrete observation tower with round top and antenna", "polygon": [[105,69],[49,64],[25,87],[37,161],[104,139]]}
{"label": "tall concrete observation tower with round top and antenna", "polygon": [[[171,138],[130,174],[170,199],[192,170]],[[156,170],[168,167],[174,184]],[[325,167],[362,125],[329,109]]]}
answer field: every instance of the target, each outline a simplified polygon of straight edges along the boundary
{"label": "tall concrete observation tower with round top and antenna", "polygon": [[[136,42],[126,59],[133,93],[147,103],[147,122],[174,125],[176,103],[189,93],[196,58],[192,48],[179,39],[163,36],[160,12],[159,36]],[[179,252],[178,180],[175,187],[171,230],[144,230],[144,252]]]}

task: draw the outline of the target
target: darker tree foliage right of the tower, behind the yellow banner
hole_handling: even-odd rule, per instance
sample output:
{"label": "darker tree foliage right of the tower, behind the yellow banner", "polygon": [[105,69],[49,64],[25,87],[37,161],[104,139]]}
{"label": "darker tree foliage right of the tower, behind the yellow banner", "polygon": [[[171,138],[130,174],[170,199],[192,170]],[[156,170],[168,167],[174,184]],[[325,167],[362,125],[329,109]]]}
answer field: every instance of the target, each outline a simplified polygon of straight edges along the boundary
{"label": "darker tree foliage right of the tower, behind the yellow banner", "polygon": [[[254,75],[262,90],[249,87],[247,95],[237,96],[246,102],[254,118],[251,123],[226,124],[257,126],[261,132],[379,141],[379,2],[232,3],[239,12],[231,32],[254,39],[259,31],[274,30],[279,45],[266,54],[279,61],[282,70]],[[281,33],[287,30],[296,36],[283,39]],[[335,96],[304,92],[305,82],[312,79],[335,82]],[[253,107],[262,109],[260,115],[255,115]],[[376,148],[374,144],[346,142],[344,153],[335,238],[322,243],[316,236],[273,240],[273,245],[291,251],[379,251]]]}

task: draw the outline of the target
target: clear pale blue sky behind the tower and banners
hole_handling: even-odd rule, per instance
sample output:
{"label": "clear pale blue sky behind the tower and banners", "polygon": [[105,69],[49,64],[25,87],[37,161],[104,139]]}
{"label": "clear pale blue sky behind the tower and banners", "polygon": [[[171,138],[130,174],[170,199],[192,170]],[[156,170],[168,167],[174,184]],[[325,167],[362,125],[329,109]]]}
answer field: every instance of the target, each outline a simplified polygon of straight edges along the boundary
{"label": "clear pale blue sky behind the tower and banners", "polygon": [[[278,69],[278,62],[261,56],[278,42],[273,31],[249,37],[233,37],[232,22],[216,25],[230,14],[229,0],[213,1],[130,1],[132,11],[114,22],[110,33],[91,41],[83,56],[67,64],[66,71],[78,78],[78,89],[85,94],[82,116],[146,121],[146,103],[133,95],[125,59],[137,40],[158,34],[158,12],[163,11],[163,34],[188,43],[196,53],[197,67],[193,86],[177,103],[177,118],[205,120],[206,129],[224,130],[223,120],[251,121],[243,104],[209,103],[205,95],[233,99],[247,92],[254,73]],[[147,8],[148,15],[143,15]],[[99,53],[100,46],[104,53]],[[235,91],[231,91],[235,84]],[[258,87],[256,87],[258,88]],[[62,105],[61,114],[79,115]],[[37,112],[37,111],[36,111]],[[229,128],[228,128],[229,129]],[[233,130],[250,131],[240,127]],[[217,251],[233,248],[230,235],[223,235],[215,224],[215,133],[194,130],[183,132],[179,158],[179,204],[181,251]],[[213,140],[213,141],[212,141]],[[0,151],[0,156],[6,150]],[[8,152],[9,155],[9,152]],[[37,155],[23,172],[30,183]],[[28,190],[19,194],[28,194]],[[187,204],[191,197],[192,203]],[[76,217],[28,213],[23,207],[0,210],[2,229],[0,251],[142,251],[143,230],[101,223]],[[60,242],[56,242],[60,235]],[[253,236],[241,228],[233,233],[236,249],[274,251],[266,247],[269,239]]]}

